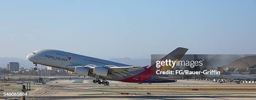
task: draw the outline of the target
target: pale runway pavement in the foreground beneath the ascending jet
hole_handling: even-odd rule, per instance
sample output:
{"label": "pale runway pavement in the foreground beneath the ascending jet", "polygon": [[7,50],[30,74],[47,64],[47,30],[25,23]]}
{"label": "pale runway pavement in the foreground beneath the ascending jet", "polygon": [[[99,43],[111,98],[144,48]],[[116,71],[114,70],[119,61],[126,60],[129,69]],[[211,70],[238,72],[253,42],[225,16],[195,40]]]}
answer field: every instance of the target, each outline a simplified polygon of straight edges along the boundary
{"label": "pale runway pavement in the foreground beneath the ascending jet", "polygon": [[[216,83],[206,80],[177,80],[176,83],[92,83],[90,79],[54,80],[31,85],[28,100],[256,100],[255,83]],[[5,88],[16,88],[10,85]],[[198,90],[191,90],[196,88]],[[6,89],[5,89],[6,90]],[[21,92],[8,89],[5,92]],[[121,94],[128,93],[128,94]],[[8,97],[20,99],[20,97]]]}

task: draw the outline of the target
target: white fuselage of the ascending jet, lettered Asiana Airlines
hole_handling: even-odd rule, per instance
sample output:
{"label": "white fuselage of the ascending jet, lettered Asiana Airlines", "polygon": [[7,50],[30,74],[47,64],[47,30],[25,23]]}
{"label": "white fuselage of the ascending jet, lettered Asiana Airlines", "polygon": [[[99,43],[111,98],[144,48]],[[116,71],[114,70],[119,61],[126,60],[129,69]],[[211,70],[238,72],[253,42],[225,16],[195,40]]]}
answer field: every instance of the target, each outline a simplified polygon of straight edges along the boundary
{"label": "white fuselage of the ascending jet, lettered Asiana Airlines", "polygon": [[79,54],[73,54],[65,51],[41,49],[28,54],[27,59],[33,63],[38,63],[45,66],[52,66],[56,68],[62,68],[70,71],[74,71],[69,66],[131,66],[122,63],[116,63],[113,61],[107,61],[103,59],[97,59],[90,56],[83,56]]}

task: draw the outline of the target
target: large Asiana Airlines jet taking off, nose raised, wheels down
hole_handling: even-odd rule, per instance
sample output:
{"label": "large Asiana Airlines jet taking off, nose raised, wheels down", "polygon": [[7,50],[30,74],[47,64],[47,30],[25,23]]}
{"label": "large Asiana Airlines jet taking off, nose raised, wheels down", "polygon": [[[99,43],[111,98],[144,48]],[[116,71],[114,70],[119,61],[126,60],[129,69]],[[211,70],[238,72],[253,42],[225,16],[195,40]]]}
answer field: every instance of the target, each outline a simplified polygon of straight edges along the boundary
{"label": "large Asiana Airlines jet taking off, nose raised, wheels down", "polygon": [[[159,61],[166,59],[180,60],[188,49],[177,48]],[[128,83],[169,83],[174,79],[160,79],[155,77],[156,70],[167,71],[169,66],[156,68],[156,63],[151,66],[137,67],[123,63],[116,63],[89,56],[69,53],[53,49],[41,49],[28,54],[27,59],[37,64],[73,71],[79,76],[92,76],[96,79],[93,83],[109,84],[106,80],[115,80]],[[168,68],[167,68],[168,67]],[[35,70],[37,68],[34,68]],[[100,80],[102,79],[102,81]]]}

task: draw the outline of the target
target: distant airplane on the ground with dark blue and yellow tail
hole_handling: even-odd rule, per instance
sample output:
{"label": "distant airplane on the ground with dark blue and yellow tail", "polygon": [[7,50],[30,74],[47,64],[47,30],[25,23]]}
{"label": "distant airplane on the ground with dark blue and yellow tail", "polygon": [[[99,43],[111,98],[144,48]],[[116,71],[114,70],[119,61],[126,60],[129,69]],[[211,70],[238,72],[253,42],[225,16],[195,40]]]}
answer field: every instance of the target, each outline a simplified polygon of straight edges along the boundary
{"label": "distant airplane on the ground with dark blue and yellow tail", "polygon": [[254,75],[230,75],[223,68],[218,67],[218,71],[220,71],[220,76],[223,76],[227,79],[235,79],[235,80],[256,80],[256,74]]}

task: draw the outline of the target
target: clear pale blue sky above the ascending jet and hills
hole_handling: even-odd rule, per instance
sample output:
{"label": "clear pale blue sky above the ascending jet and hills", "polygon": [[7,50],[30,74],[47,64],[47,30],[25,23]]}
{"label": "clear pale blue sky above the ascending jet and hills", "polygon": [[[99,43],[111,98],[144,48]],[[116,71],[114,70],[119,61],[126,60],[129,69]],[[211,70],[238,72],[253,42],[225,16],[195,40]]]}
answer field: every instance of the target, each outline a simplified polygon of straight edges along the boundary
{"label": "clear pale blue sky above the ascending jet and hills", "polygon": [[1,0],[0,57],[256,54],[255,0]]}

